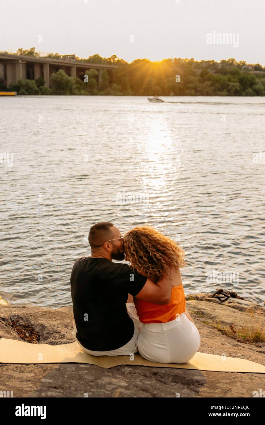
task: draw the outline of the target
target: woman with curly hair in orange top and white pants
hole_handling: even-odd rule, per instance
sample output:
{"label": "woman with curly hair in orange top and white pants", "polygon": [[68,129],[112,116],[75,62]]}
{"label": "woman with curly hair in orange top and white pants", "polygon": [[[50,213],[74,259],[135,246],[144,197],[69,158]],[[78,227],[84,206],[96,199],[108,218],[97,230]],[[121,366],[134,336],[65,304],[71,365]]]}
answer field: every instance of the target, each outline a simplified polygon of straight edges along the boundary
{"label": "woman with curly hair in orange top and white pants", "polygon": [[180,267],[184,252],[170,238],[150,227],[135,227],[124,236],[126,261],[156,283],[165,274],[172,280],[169,304],[133,298],[142,329],[138,351],[158,363],[186,363],[198,351],[200,334],[186,309]]}

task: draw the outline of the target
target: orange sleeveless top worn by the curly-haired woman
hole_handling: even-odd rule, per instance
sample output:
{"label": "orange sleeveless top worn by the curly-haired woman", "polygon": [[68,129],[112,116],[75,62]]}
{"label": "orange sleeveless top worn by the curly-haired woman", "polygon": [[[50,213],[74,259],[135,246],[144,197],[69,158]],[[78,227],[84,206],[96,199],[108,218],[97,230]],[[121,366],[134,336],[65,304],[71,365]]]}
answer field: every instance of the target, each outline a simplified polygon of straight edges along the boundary
{"label": "orange sleeveless top worn by the curly-haired woman", "polygon": [[173,286],[169,304],[149,303],[135,297],[133,300],[139,320],[142,323],[171,322],[186,310],[186,299],[182,283],[179,286]]}

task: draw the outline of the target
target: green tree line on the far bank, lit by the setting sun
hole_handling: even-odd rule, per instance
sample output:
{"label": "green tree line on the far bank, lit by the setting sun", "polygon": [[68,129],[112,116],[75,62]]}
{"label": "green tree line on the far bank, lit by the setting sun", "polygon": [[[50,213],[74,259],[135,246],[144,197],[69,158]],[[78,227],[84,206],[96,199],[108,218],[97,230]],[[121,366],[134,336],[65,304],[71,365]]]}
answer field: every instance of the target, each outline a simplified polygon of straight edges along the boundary
{"label": "green tree line on the far bank, lit by the setting sun", "polygon": [[[17,54],[24,55],[34,53],[34,48],[17,51]],[[58,54],[49,55],[59,58]],[[20,80],[6,89],[17,91],[17,94],[265,96],[265,67],[237,62],[233,58],[220,62],[195,61],[193,58],[164,59],[160,62],[136,59],[127,63],[116,55],[102,58],[96,54],[87,59],[75,59],[87,63],[87,71],[80,78],[70,77],[59,70],[51,75],[51,88],[45,87],[43,78],[38,78]],[[89,68],[89,63],[115,63],[117,66],[111,71],[104,70],[99,82],[98,71]],[[3,84],[0,89],[4,89]]]}

